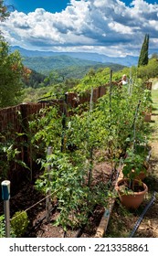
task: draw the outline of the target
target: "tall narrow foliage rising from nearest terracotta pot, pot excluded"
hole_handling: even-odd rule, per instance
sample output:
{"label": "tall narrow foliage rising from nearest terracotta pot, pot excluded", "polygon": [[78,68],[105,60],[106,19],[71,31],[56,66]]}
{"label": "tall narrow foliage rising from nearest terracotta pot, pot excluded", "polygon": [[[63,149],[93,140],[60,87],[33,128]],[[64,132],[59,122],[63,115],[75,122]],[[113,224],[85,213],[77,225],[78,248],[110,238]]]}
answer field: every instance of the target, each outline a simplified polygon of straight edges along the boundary
{"label": "tall narrow foliage rising from nearest terracotta pot, pot excluded", "polygon": [[149,126],[147,123],[144,123],[143,112],[151,108],[151,91],[143,90],[142,87],[139,87],[134,95],[137,104],[135,103],[132,133],[128,138],[126,158],[123,161],[124,166],[122,169],[123,176],[131,180],[131,187],[134,186],[133,180],[138,179],[142,172],[146,172],[145,162],[149,151],[147,146]]}

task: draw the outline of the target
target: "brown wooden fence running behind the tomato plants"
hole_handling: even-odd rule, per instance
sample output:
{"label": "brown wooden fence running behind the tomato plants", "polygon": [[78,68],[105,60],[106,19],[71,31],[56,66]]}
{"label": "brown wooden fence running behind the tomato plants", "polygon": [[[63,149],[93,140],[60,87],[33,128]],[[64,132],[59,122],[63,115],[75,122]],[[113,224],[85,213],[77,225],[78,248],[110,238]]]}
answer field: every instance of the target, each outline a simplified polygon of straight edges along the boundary
{"label": "brown wooden fence running behind the tomato plants", "polygon": [[[106,93],[106,85],[100,86],[93,90],[93,102],[96,102],[101,96]],[[16,106],[7,107],[0,110],[0,143],[5,144],[6,140],[14,140],[17,149],[20,152],[18,154],[18,159],[26,163],[26,165],[33,169],[36,165],[32,161],[31,147],[28,145],[28,138],[26,131],[28,131],[28,122],[31,119],[32,114],[37,113],[40,109],[46,108],[50,105],[58,105],[60,112],[65,112],[66,109],[71,112],[74,109],[85,102],[90,102],[90,92],[87,91],[79,96],[77,93],[69,92],[65,94],[65,99],[63,100],[41,100],[37,103],[22,103]],[[69,113],[68,112],[68,113]],[[21,133],[21,136],[15,136],[16,133]],[[6,139],[5,139],[6,138]],[[5,140],[5,141],[4,141]],[[2,155],[0,155],[0,161],[2,160]],[[7,161],[7,158],[5,158]],[[3,160],[4,161],[4,160]],[[27,176],[26,168],[24,166],[18,165],[17,163],[12,163],[10,167],[10,172],[8,178],[12,181],[14,187],[21,180],[24,180],[24,176]],[[3,173],[2,166],[0,166],[0,176]],[[34,176],[34,174],[33,174]]]}

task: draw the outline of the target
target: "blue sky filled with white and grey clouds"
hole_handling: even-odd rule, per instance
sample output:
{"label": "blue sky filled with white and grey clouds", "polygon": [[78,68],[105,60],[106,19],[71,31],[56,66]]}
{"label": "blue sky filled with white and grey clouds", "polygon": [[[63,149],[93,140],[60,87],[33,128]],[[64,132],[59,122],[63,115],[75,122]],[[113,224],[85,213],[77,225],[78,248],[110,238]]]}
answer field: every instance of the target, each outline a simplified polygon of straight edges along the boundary
{"label": "blue sky filled with white and grey clouds", "polygon": [[158,4],[150,0],[5,0],[0,24],[12,46],[139,56],[145,34],[158,53]]}

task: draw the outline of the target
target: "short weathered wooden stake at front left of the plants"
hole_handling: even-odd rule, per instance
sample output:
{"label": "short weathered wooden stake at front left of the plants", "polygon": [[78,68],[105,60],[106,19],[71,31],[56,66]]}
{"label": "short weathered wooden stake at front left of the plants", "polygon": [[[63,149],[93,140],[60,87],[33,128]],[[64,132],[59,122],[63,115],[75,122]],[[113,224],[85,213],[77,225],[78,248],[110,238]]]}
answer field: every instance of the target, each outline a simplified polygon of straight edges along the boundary
{"label": "short weathered wooden stake at front left of the plants", "polygon": [[[47,155],[51,155],[52,154],[52,147],[48,146],[47,148]],[[47,166],[47,183],[49,184],[50,182],[50,170],[51,170],[51,166],[48,165]],[[50,222],[50,210],[51,210],[51,189],[49,187],[49,189],[47,190],[47,197],[46,197],[46,219],[47,219],[47,223]]]}

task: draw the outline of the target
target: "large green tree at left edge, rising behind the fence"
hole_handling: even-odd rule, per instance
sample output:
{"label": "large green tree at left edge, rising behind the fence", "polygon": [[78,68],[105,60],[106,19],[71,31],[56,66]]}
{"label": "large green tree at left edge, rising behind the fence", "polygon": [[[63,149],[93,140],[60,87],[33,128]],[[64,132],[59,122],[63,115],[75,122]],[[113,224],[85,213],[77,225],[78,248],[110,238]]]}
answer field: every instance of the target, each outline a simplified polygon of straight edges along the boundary
{"label": "large green tree at left edge, rising behind the fence", "polygon": [[20,53],[9,53],[9,46],[0,38],[0,108],[18,103],[23,82],[26,75]]}

